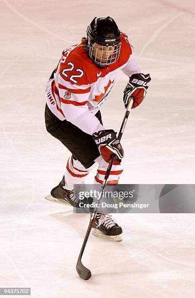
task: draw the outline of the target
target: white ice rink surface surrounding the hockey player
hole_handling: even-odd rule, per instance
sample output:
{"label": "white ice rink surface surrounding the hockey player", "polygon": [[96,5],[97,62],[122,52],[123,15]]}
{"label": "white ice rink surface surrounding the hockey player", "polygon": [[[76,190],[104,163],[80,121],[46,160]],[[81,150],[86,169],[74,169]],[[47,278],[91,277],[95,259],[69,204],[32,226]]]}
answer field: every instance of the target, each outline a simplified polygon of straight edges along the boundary
{"label": "white ice rink surface surrounding the hockey player", "polygon": [[[78,277],[88,216],[44,199],[69,156],[45,129],[44,90],[63,49],[95,16],[113,17],[152,77],[124,132],[120,183],[195,184],[195,2],[1,0],[0,15],[0,287],[31,287],[33,298],[194,298],[194,214],[114,216],[123,241],[91,235],[83,263],[93,277]],[[107,128],[120,127],[127,81],[118,73],[101,108]]]}

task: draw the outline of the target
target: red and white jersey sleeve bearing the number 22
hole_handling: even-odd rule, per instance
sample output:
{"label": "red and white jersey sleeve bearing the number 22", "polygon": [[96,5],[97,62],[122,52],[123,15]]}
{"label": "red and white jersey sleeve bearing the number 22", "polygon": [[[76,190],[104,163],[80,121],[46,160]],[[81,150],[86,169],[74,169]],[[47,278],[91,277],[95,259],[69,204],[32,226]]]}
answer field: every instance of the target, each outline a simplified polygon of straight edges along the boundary
{"label": "red and white jersey sleeve bearing the number 22", "polygon": [[104,130],[97,117],[88,109],[91,86],[87,83],[86,71],[81,65],[73,60],[61,63],[56,89],[67,121],[90,135]]}

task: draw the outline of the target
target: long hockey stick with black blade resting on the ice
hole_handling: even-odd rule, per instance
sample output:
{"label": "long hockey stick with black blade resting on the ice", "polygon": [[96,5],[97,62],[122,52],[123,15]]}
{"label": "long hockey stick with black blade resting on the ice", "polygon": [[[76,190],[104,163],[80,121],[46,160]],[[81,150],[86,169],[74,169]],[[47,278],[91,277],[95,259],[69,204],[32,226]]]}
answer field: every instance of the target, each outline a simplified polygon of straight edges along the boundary
{"label": "long hockey stick with black blade resting on the ice", "polygon": [[[125,113],[125,116],[124,116],[124,119],[123,119],[123,122],[122,122],[122,125],[121,125],[121,128],[120,128],[120,131],[118,133],[118,137],[117,139],[120,141],[121,140],[121,137],[123,135],[123,131],[125,129],[125,125],[127,123],[127,119],[129,117],[129,114],[130,114],[130,109],[132,107],[132,104],[133,104],[133,98],[130,97],[130,101],[129,101],[129,104],[128,104],[128,107],[127,107],[127,110],[126,110],[126,113]],[[106,174],[105,174],[105,177],[104,177],[104,180],[103,180],[103,184],[102,184],[102,187],[101,187],[101,190],[100,190],[100,195],[99,195],[99,201],[101,200],[101,196],[102,196],[102,193],[104,191],[104,188],[106,186],[106,183],[107,183],[107,180],[108,180],[108,177],[110,175],[110,172],[111,172],[111,168],[113,166],[113,163],[114,163],[114,158],[115,158],[115,154],[113,154],[112,156],[112,159],[108,165],[108,168],[107,168],[107,171],[106,171]],[[86,235],[85,235],[85,238],[84,238],[84,241],[82,243],[82,247],[81,247],[81,251],[80,251],[80,254],[79,254],[79,258],[78,258],[78,261],[77,261],[77,265],[76,265],[76,270],[80,276],[81,279],[84,279],[84,280],[87,280],[87,279],[90,279],[91,277],[91,271],[89,269],[87,269],[81,262],[81,258],[82,258],[82,254],[84,252],[84,249],[85,249],[85,246],[86,246],[86,243],[87,243],[87,240],[89,238],[89,234],[91,232],[91,229],[92,229],[92,226],[94,224],[94,221],[96,219],[96,215],[97,215],[97,208],[94,212],[94,214],[92,215],[92,218],[90,219],[90,223],[89,223],[89,226],[88,226],[88,229],[87,229],[87,232],[86,232]]]}

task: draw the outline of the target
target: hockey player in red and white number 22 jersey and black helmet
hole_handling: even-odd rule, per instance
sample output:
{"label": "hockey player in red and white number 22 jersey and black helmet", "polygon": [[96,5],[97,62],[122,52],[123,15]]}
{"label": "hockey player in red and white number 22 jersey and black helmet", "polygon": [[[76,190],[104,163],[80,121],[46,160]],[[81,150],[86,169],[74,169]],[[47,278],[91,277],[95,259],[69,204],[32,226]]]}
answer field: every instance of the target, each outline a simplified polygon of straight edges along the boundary
{"label": "hockey player in red and white number 22 jersey and black helmet", "polygon": [[[77,206],[73,185],[82,184],[97,164],[95,183],[102,184],[113,153],[116,158],[107,184],[118,183],[124,152],[115,142],[116,132],[103,126],[99,111],[118,70],[129,77],[123,95],[125,107],[130,96],[134,99],[132,108],[139,106],[151,78],[141,74],[127,35],[107,17],[92,20],[87,37],[63,51],[51,74],[46,87],[46,128],[72,153],[62,181],[51,190],[51,200]],[[96,236],[114,241],[122,233],[108,214],[97,214],[94,228]]]}

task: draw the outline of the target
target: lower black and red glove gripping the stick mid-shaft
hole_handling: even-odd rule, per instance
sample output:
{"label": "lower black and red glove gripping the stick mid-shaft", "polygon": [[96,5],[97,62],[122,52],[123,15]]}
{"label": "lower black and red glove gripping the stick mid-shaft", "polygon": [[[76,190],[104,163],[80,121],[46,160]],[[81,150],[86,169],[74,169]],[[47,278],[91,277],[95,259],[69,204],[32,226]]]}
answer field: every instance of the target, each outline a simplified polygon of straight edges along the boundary
{"label": "lower black and red glove gripping the stick mid-shaft", "polygon": [[99,152],[103,159],[109,163],[112,155],[116,154],[114,159],[114,165],[119,165],[121,158],[124,157],[123,148],[116,139],[116,132],[114,130],[100,130],[93,133],[93,139],[95,140]]}

